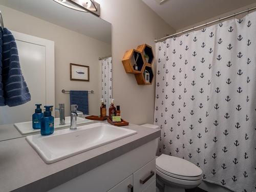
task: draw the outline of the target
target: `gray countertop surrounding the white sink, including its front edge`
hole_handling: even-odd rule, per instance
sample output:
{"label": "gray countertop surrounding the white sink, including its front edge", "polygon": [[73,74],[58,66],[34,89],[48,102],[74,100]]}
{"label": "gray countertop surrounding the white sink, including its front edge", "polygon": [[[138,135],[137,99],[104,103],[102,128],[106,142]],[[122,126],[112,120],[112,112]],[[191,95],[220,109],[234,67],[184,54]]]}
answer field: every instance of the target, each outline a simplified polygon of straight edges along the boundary
{"label": "gray countertop surrounding the white sink, including its front edge", "polygon": [[47,191],[160,137],[160,130],[124,127],[138,133],[52,164],[46,164],[25,137],[0,142],[0,190]]}

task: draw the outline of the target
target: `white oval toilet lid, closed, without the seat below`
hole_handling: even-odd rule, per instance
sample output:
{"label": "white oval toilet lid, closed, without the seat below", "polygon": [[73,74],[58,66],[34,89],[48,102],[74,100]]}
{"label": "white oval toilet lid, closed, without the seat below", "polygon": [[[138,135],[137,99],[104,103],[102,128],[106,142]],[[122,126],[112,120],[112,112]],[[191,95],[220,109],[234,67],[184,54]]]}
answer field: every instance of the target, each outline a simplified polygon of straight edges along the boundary
{"label": "white oval toilet lid, closed, without the seat below", "polygon": [[182,177],[198,177],[203,173],[201,168],[185,159],[164,154],[156,159],[156,166],[164,172]]}

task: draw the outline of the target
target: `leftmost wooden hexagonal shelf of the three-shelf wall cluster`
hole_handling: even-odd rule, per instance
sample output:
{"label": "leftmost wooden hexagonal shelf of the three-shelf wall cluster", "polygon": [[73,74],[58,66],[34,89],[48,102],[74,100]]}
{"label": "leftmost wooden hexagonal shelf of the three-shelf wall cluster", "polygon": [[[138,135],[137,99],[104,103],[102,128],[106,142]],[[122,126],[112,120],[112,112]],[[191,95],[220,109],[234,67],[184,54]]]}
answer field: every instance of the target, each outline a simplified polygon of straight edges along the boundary
{"label": "leftmost wooden hexagonal shelf of the three-shelf wall cluster", "polygon": [[[135,63],[137,58],[137,62]],[[122,58],[123,67],[125,69],[126,73],[132,73],[132,74],[139,74],[142,73],[142,69],[144,67],[144,56],[142,56],[142,53],[135,49],[130,49],[125,52],[123,58]],[[136,69],[136,65],[137,68]]]}

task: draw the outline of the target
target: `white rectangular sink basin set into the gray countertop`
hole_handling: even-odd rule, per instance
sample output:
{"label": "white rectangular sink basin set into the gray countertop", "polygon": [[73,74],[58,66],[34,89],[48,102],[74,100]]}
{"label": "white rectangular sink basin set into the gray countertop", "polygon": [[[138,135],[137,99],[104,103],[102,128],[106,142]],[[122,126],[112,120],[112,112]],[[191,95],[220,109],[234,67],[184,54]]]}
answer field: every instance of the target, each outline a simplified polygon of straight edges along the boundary
{"label": "white rectangular sink basin set into the gray countertop", "polygon": [[26,140],[50,164],[136,133],[100,122],[79,126],[77,130],[58,130],[49,136],[30,135]]}

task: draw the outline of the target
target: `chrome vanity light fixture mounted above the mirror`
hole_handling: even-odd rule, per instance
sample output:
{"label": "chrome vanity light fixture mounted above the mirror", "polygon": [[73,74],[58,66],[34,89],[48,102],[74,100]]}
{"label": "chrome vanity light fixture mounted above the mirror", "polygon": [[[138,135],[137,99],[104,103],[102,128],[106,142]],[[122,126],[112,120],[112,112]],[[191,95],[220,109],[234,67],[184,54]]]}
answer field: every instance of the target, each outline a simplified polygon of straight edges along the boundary
{"label": "chrome vanity light fixture mounted above the mirror", "polygon": [[94,0],[53,0],[60,5],[74,9],[76,11],[90,12],[100,16],[100,4]]}

